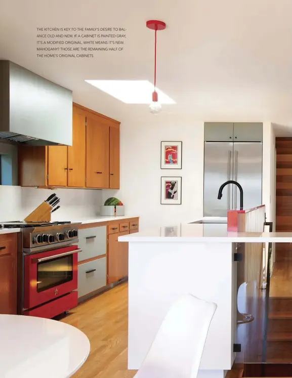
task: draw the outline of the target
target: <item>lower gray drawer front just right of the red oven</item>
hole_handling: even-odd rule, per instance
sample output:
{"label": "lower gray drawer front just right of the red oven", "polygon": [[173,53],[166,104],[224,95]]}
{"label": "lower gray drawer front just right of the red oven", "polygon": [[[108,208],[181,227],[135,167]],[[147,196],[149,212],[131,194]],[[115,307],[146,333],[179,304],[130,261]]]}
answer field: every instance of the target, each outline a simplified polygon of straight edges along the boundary
{"label": "lower gray drawer front just right of the red oven", "polygon": [[106,258],[78,265],[78,298],[106,286]]}

